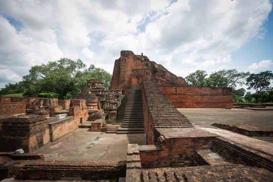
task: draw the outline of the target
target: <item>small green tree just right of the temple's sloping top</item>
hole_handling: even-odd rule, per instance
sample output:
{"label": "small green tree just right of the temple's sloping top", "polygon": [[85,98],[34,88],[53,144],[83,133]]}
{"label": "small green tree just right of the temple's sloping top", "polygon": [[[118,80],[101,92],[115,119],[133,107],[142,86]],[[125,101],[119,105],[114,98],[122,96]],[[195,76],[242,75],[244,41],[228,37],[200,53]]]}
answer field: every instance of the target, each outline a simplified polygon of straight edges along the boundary
{"label": "small green tree just right of the temple's sloping top", "polygon": [[188,84],[196,86],[206,86],[207,73],[204,70],[197,70],[194,73],[188,75],[185,79]]}

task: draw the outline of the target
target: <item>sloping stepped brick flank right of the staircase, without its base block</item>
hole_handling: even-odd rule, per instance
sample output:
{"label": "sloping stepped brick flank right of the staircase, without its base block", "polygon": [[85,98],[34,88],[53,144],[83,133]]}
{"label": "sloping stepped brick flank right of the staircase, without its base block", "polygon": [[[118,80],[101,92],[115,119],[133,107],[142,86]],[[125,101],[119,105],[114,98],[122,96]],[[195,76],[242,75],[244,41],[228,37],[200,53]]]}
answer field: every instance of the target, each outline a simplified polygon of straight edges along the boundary
{"label": "sloping stepped brick flank right of the staircase, without its base block", "polygon": [[189,119],[166,99],[152,78],[144,79],[142,85],[144,130],[148,144],[155,142],[155,128],[193,127]]}

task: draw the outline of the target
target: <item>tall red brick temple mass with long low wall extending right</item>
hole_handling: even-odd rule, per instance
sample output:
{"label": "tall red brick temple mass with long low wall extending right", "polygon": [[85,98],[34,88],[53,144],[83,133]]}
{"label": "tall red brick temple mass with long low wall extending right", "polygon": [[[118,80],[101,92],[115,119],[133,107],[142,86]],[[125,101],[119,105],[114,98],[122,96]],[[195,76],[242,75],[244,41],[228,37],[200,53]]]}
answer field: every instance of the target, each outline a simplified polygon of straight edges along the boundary
{"label": "tall red brick temple mass with long low wall extending right", "polygon": [[141,84],[143,78],[153,78],[177,108],[232,107],[232,88],[189,86],[182,77],[177,77],[146,56],[121,51],[121,57],[115,61],[111,89],[127,92],[131,84]]}

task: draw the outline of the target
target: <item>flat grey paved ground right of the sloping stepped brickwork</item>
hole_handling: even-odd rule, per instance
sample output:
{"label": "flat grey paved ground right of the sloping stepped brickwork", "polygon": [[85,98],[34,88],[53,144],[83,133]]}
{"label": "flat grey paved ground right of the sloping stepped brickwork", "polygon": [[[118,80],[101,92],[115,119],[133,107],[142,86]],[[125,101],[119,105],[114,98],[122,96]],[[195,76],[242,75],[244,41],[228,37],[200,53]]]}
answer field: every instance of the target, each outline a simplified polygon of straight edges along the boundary
{"label": "flat grey paved ground right of the sloping stepped brickwork", "polygon": [[[197,127],[209,127],[212,123],[246,123],[273,127],[272,110],[247,110],[247,109],[190,109],[179,108],[188,119]],[[273,143],[273,137],[254,137]]]}

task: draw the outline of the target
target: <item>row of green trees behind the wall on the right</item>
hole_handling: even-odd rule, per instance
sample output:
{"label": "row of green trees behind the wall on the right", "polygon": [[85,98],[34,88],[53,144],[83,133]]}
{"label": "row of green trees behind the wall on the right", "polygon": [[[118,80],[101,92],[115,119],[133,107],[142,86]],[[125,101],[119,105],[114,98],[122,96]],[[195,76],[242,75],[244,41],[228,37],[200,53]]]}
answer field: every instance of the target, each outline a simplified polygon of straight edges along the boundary
{"label": "row of green trees behind the wall on the right", "polygon": [[[238,72],[236,69],[220,70],[208,76],[206,71],[197,70],[185,78],[190,85],[203,87],[225,87],[233,88],[234,102],[273,102],[272,71],[250,74],[249,72]],[[247,90],[255,90],[254,93],[242,87],[248,86]]]}

